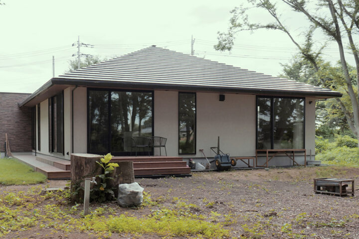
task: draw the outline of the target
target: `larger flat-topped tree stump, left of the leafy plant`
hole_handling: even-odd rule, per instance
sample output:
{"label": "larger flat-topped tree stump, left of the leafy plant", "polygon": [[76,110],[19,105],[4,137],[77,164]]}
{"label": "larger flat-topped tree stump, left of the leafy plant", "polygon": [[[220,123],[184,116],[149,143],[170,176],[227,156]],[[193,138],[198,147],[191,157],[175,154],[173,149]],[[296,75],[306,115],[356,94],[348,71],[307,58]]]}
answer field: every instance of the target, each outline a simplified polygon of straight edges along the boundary
{"label": "larger flat-topped tree stump, left of the leafy plant", "polygon": [[[102,174],[102,167],[96,163],[102,155],[88,153],[71,154],[71,199],[82,202],[84,199],[85,178]],[[94,185],[91,185],[91,188]]]}

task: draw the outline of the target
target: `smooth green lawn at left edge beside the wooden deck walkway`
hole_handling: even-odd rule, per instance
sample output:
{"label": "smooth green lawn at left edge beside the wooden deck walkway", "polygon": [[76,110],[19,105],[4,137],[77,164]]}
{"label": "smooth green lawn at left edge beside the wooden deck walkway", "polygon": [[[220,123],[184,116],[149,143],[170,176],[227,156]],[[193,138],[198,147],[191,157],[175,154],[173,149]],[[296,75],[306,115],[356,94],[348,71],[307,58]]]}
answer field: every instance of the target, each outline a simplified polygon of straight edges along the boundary
{"label": "smooth green lawn at left edge beside the wooden deck walkway", "polygon": [[0,184],[26,185],[43,183],[46,176],[13,158],[0,158]]}

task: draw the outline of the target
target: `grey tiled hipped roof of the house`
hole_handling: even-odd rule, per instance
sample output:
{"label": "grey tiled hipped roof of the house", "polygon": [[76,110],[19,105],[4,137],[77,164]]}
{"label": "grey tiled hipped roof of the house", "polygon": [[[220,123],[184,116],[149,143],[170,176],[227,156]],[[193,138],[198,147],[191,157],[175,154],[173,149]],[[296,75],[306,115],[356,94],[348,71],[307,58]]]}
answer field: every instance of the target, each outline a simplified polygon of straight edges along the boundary
{"label": "grey tiled hipped roof of the house", "polygon": [[[153,89],[337,97],[341,93],[150,46],[53,80],[112,83]],[[114,84],[116,83],[116,84]]]}

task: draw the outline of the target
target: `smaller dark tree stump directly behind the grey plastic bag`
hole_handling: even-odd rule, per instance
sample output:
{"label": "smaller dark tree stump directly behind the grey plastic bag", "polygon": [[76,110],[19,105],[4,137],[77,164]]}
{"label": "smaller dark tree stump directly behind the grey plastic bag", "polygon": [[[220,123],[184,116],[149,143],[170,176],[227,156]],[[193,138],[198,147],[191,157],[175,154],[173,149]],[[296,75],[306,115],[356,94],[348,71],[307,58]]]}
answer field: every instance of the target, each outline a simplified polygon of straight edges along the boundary
{"label": "smaller dark tree stump directly behind the grey plastic bag", "polygon": [[123,183],[134,183],[135,182],[135,173],[133,170],[132,161],[120,161],[117,162],[118,167],[115,167],[114,171],[110,174],[110,177],[113,180],[106,182],[109,187],[114,188],[114,194],[117,198],[118,196],[118,185]]}

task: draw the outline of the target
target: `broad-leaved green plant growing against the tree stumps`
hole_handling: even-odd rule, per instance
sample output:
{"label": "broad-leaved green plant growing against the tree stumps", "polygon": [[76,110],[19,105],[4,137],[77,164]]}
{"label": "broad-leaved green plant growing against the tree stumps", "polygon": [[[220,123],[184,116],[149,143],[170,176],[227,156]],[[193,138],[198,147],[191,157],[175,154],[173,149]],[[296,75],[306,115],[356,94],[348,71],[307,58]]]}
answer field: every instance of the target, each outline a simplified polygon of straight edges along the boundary
{"label": "broad-leaved green plant growing against the tree stumps", "polygon": [[96,184],[95,187],[90,192],[90,197],[92,200],[97,202],[104,202],[106,200],[113,200],[115,198],[114,188],[109,187],[109,181],[114,178],[110,174],[115,170],[115,167],[119,165],[117,163],[110,163],[112,159],[111,153],[104,155],[100,161],[96,161],[102,169],[103,173],[96,175],[96,178],[100,178],[100,183]]}

